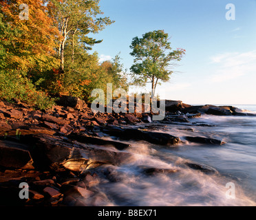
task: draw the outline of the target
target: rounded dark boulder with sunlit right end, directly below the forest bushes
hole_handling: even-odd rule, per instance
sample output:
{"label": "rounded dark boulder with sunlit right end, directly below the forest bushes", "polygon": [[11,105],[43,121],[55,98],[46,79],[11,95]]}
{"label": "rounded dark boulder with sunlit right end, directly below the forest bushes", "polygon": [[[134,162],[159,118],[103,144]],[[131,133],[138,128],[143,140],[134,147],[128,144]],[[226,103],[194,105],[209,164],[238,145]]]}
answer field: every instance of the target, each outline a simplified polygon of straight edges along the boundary
{"label": "rounded dark boulder with sunlit right end, directly below the forest bushes", "polygon": [[76,110],[82,110],[87,107],[87,104],[83,100],[73,96],[61,96],[56,103],[63,107],[72,107]]}

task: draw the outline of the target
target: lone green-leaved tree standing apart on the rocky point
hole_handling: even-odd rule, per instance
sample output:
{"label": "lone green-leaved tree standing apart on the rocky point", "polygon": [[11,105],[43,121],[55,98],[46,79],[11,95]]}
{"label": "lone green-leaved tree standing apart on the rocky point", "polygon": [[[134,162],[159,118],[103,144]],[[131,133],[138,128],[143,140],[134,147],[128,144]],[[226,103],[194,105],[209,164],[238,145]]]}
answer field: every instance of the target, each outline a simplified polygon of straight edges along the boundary
{"label": "lone green-leaved tree standing apart on the rocky point", "polygon": [[172,50],[169,36],[164,30],[147,32],[139,39],[136,36],[130,46],[134,56],[134,65],[131,66],[131,76],[134,85],[145,86],[151,83],[151,98],[155,96],[156,85],[160,80],[168,82],[171,74],[173,61],[180,61],[185,50],[178,48]]}

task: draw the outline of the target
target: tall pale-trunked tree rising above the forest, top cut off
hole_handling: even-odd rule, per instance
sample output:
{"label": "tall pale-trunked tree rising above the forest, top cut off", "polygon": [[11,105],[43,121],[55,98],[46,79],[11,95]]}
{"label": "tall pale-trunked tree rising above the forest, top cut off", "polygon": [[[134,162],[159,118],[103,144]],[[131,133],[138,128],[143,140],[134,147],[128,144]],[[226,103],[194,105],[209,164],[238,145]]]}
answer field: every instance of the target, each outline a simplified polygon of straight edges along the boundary
{"label": "tall pale-trunked tree rising above the forest, top cut off", "polygon": [[[109,17],[98,18],[103,14],[98,5],[99,0],[51,0],[54,4],[52,15],[56,20],[56,26],[61,34],[58,45],[58,58],[61,59],[61,70],[65,65],[65,44],[67,39],[72,39],[72,63],[74,63],[74,43],[81,41],[85,45],[92,46],[96,41],[86,35],[98,33],[106,25],[110,25]],[[76,36],[78,39],[75,39]]]}

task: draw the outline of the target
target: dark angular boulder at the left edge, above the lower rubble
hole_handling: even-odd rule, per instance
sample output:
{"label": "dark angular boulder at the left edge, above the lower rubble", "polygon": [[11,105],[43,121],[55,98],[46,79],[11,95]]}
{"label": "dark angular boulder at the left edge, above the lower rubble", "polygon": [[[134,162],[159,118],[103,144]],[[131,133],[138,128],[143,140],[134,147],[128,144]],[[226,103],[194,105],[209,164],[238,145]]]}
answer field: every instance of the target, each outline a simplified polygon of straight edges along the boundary
{"label": "dark angular boulder at the left edge, above the lower rubble", "polygon": [[34,169],[28,146],[0,140],[0,166],[6,168]]}

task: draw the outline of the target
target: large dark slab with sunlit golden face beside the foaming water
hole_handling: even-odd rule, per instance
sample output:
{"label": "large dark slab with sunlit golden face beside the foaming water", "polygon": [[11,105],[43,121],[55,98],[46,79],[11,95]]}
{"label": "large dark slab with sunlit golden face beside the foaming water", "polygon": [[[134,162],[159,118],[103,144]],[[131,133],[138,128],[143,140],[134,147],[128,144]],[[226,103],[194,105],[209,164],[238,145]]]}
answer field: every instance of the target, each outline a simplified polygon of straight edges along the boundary
{"label": "large dark slab with sunlit golden face beside the foaming water", "polygon": [[66,137],[36,135],[30,137],[34,143],[34,161],[52,170],[67,168],[73,171],[84,171],[102,164],[120,164],[131,156],[129,153],[115,151],[114,148],[88,146],[80,142],[66,142]]}

